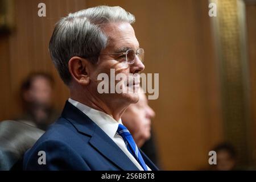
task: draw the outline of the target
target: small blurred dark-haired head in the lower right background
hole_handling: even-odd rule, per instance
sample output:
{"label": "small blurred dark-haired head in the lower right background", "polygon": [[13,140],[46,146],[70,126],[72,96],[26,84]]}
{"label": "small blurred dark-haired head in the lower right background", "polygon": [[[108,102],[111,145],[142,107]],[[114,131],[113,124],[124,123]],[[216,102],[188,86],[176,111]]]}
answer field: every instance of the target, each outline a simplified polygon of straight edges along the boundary
{"label": "small blurred dark-haired head in the lower right background", "polygon": [[236,166],[236,151],[231,144],[222,143],[214,148],[217,153],[217,165],[218,171],[230,171]]}

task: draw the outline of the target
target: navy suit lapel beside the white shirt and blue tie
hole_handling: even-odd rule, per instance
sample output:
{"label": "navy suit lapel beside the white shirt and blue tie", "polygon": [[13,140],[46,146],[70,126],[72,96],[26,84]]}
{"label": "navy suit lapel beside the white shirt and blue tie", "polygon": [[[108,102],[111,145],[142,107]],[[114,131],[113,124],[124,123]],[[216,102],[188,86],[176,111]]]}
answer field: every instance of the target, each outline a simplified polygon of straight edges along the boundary
{"label": "navy suit lapel beside the white shirt and blue tie", "polygon": [[79,133],[89,135],[89,143],[119,168],[127,171],[139,170],[96,123],[68,101],[61,116],[68,119]]}

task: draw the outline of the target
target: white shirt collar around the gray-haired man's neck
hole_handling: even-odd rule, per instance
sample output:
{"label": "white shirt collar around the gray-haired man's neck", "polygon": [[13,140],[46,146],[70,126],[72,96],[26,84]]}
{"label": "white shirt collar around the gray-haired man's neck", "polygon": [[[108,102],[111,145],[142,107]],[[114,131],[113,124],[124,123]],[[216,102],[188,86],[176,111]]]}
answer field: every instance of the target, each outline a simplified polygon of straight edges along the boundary
{"label": "white shirt collar around the gray-haired man's neck", "polygon": [[117,122],[110,115],[86,106],[79,101],[72,100],[71,98],[69,98],[68,101],[77,107],[77,109],[81,110],[82,113],[86,114],[90,119],[92,119],[92,121],[96,123],[96,125],[98,125],[110,138],[114,138],[118,125],[122,124],[121,118]]}

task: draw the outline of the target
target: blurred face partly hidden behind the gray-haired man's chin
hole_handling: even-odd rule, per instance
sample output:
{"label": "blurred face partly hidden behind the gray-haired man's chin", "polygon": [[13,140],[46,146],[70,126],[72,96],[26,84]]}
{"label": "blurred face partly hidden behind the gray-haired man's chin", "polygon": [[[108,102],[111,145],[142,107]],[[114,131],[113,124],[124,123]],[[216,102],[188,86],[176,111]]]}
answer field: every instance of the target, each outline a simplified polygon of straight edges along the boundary
{"label": "blurred face partly hidden behind the gray-haired man's chin", "polygon": [[122,123],[130,131],[138,147],[141,147],[150,138],[151,119],[155,112],[150,106],[146,95],[139,93],[139,101],[127,107],[122,115]]}

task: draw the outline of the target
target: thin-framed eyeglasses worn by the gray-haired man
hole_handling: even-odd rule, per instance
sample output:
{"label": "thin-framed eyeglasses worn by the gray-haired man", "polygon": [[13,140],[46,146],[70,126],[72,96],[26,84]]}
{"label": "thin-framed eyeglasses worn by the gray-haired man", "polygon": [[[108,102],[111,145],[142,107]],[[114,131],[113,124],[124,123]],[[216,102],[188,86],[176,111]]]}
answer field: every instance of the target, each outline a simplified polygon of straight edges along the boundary
{"label": "thin-framed eyeglasses worn by the gray-haired man", "polygon": [[133,64],[135,61],[136,56],[138,56],[139,60],[143,62],[144,59],[144,49],[139,48],[137,51],[134,49],[128,49],[126,52],[117,52],[117,53],[107,53],[102,55],[119,55],[118,59],[126,60],[128,64]]}

